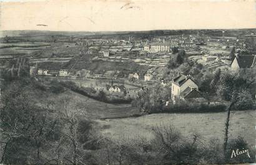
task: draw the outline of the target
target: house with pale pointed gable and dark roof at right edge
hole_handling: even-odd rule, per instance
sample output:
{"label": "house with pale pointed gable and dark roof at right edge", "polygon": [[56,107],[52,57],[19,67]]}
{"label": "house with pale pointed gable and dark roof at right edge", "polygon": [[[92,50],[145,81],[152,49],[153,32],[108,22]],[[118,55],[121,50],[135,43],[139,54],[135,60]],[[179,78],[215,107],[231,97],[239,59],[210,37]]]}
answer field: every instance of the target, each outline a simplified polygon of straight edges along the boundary
{"label": "house with pale pointed gable and dark roof at right edge", "polygon": [[239,70],[240,68],[255,68],[256,55],[238,55],[231,62],[231,70]]}

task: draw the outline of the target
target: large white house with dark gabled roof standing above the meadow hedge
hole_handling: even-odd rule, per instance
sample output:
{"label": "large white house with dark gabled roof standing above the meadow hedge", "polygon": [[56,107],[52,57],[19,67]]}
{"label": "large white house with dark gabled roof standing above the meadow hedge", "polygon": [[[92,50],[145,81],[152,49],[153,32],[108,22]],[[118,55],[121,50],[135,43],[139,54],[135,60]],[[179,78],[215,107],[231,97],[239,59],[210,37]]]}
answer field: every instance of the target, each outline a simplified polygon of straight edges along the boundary
{"label": "large white house with dark gabled roof standing above the meadow hedge", "polygon": [[172,81],[172,100],[184,99],[190,92],[199,91],[198,85],[192,80],[191,75],[179,75]]}

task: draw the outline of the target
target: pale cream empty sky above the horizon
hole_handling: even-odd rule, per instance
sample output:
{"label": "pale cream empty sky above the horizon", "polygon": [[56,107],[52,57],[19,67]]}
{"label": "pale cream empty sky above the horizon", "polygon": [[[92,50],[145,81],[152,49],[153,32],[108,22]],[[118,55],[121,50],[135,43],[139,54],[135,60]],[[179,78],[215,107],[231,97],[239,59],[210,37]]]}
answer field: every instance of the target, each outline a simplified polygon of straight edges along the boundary
{"label": "pale cream empty sky above the horizon", "polygon": [[240,28],[256,28],[255,1],[1,0],[1,31]]}

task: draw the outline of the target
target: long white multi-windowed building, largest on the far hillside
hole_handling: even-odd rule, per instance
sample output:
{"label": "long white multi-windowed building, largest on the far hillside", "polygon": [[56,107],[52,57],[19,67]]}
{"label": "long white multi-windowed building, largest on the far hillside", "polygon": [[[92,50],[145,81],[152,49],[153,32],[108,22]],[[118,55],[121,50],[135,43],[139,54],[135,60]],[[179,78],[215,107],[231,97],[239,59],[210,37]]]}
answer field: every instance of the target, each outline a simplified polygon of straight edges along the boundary
{"label": "long white multi-windowed building, largest on the far hillside", "polygon": [[149,45],[145,45],[144,50],[150,53],[170,52],[170,44],[164,42],[152,43]]}

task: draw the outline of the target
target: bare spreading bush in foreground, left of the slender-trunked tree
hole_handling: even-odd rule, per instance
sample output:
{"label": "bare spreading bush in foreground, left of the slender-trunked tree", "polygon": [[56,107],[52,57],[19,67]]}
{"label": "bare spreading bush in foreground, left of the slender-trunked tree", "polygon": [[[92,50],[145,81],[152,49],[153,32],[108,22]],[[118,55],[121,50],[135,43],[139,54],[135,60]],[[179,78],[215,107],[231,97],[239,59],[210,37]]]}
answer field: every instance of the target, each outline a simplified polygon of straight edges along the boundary
{"label": "bare spreading bush in foreground, left of the slender-trunked tree", "polygon": [[154,150],[159,151],[162,164],[197,164],[202,158],[203,148],[199,135],[184,137],[173,126],[155,126]]}

